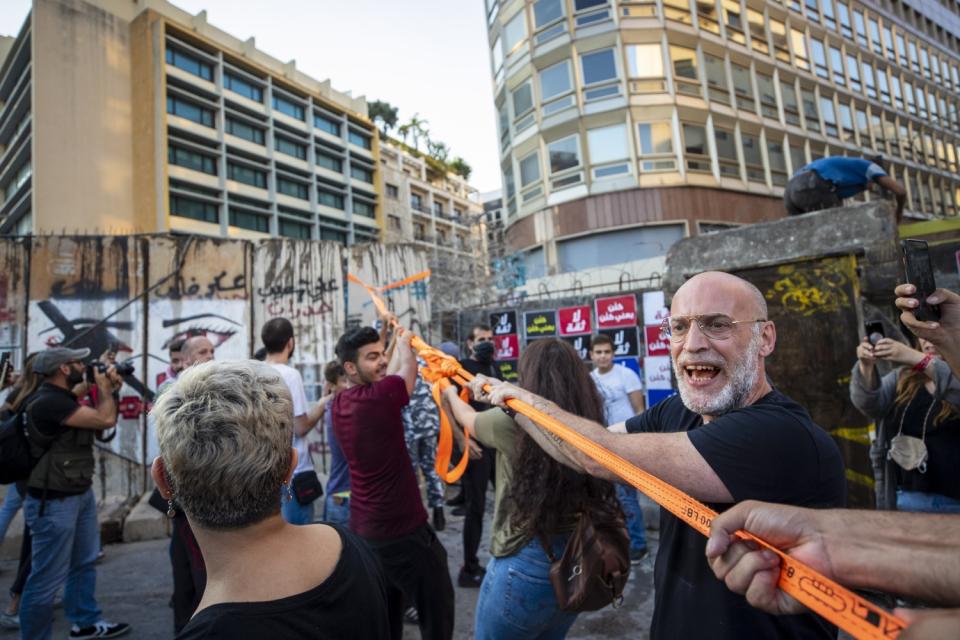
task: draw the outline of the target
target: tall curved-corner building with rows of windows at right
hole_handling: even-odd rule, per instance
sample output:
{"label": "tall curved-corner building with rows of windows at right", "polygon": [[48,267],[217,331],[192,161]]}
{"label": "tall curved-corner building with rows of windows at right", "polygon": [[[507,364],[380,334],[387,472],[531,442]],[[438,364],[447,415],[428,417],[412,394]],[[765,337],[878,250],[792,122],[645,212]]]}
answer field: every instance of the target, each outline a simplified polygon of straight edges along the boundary
{"label": "tall curved-corner building with rows of windows at right", "polygon": [[908,222],[960,228],[956,3],[486,8],[507,237],[528,278],[661,270],[681,237],[783,216],[788,177],[825,155],[884,155]]}

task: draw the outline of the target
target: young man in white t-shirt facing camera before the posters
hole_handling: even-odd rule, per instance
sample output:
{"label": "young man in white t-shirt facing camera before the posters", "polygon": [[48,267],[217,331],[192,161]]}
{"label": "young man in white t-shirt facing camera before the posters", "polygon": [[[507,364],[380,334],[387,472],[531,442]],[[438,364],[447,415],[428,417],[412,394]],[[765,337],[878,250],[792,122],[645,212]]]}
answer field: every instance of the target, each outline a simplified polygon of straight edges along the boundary
{"label": "young man in white t-shirt facing camera before the posters", "polygon": [[[627,367],[613,362],[613,340],[603,334],[593,336],[590,343],[590,360],[594,369],[590,376],[603,396],[603,409],[607,426],[624,422],[643,413],[643,385],[640,376]],[[647,555],[647,536],[643,525],[643,511],[637,500],[637,490],[618,483],[617,498],[627,516],[627,531],[630,533],[630,562],[637,564]]]}

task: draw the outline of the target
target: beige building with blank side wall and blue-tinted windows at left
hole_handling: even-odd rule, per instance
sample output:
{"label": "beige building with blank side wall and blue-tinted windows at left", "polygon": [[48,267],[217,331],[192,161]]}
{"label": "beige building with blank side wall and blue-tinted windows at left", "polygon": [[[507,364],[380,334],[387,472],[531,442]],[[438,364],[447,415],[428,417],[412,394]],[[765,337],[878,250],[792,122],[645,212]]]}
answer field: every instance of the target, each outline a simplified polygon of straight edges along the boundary
{"label": "beige building with blank side wall and blue-tinted windows at left", "polygon": [[0,55],[2,233],[380,237],[366,100],[205,12],[34,0]]}

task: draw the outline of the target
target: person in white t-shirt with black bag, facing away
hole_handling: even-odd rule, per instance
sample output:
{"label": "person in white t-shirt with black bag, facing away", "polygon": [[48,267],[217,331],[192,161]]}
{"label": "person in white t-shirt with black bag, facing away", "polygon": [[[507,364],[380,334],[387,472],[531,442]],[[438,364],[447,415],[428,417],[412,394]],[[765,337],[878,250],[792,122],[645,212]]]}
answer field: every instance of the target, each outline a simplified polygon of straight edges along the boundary
{"label": "person in white t-shirt with black bag, facing away", "polygon": [[[296,348],[293,337],[293,324],[286,318],[273,318],[267,321],[260,330],[260,339],[267,350],[264,360],[276,369],[280,377],[290,389],[293,400],[293,448],[297,450],[298,462],[290,480],[290,488],[284,490],[287,495],[281,501],[283,519],[290,524],[312,524],[313,504],[322,495],[317,473],[313,469],[313,459],[307,445],[307,434],[317,426],[323,418],[323,412],[332,396],[321,398],[320,401],[309,406],[307,394],[303,388],[303,378],[300,372],[288,363]],[[300,477],[302,474],[309,476]],[[298,488],[302,487],[302,490]]]}

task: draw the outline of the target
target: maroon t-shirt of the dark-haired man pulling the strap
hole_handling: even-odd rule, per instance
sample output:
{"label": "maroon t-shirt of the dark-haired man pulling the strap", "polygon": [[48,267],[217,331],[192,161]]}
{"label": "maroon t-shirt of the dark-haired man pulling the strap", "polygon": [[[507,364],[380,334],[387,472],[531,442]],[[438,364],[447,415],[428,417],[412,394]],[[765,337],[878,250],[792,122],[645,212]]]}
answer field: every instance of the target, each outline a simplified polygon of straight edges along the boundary
{"label": "maroon t-shirt of the dark-haired man pulling the strap", "polygon": [[350,528],[364,538],[397,538],[427,520],[403,439],[400,410],[409,400],[400,376],[333,400],[333,431],[350,467]]}

